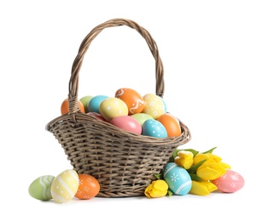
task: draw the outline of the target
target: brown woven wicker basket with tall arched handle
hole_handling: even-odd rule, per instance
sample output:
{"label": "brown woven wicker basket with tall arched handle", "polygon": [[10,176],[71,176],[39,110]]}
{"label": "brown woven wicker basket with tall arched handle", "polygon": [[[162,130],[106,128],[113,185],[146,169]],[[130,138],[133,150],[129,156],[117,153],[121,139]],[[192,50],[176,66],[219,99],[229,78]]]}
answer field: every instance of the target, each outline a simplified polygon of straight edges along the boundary
{"label": "brown woven wicker basket with tall arched handle", "polygon": [[90,31],[81,43],[69,81],[69,112],[49,122],[46,130],[54,134],[75,171],[97,178],[101,185],[97,196],[139,196],[144,195],[145,188],[155,179],[154,173],[160,173],[173,150],[189,142],[191,135],[181,121],[179,137],[157,139],[126,132],[79,111],[79,70],[84,54],[104,28],[114,26],[131,27],[146,40],[155,59],[156,94],[163,97],[164,69],[154,39],[132,20],[108,20]]}

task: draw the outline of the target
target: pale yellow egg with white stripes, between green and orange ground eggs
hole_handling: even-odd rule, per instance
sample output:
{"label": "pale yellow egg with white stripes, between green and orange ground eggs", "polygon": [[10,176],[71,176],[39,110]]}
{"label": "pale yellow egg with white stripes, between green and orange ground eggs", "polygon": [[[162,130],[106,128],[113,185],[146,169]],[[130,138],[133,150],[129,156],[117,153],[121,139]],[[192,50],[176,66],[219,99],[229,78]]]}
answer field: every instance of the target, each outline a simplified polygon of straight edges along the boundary
{"label": "pale yellow egg with white stripes, between green and orange ground eggs", "polygon": [[79,174],[68,169],[60,173],[51,184],[50,193],[56,202],[68,202],[79,189]]}

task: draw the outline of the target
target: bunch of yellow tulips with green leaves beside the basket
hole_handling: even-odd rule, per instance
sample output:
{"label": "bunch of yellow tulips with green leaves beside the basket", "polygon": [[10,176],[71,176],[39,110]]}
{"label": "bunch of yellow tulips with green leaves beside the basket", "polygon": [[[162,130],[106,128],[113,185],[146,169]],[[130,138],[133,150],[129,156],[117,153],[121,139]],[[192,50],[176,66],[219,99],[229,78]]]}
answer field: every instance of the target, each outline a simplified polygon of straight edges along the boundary
{"label": "bunch of yellow tulips with green leaves beside the basket", "polygon": [[[218,178],[224,176],[230,165],[222,161],[222,158],[212,154],[211,150],[199,152],[193,149],[175,150],[168,162],[183,167],[191,178],[189,194],[209,195],[212,191],[218,190]],[[239,175],[239,174],[238,174]],[[168,184],[162,173],[154,174],[157,178],[145,189],[144,194],[148,198],[172,195]],[[243,180],[242,180],[243,181]],[[240,188],[243,183],[241,183]],[[238,189],[237,189],[238,190]]]}

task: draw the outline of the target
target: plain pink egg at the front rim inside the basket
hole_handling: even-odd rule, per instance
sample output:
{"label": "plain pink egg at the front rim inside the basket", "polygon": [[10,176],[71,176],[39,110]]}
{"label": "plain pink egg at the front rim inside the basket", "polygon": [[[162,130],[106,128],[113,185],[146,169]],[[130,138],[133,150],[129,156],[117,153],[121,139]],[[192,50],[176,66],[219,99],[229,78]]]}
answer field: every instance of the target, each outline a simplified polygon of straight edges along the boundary
{"label": "plain pink egg at the front rim inside the basket", "polygon": [[110,123],[131,133],[141,134],[143,130],[141,124],[131,116],[115,116]]}

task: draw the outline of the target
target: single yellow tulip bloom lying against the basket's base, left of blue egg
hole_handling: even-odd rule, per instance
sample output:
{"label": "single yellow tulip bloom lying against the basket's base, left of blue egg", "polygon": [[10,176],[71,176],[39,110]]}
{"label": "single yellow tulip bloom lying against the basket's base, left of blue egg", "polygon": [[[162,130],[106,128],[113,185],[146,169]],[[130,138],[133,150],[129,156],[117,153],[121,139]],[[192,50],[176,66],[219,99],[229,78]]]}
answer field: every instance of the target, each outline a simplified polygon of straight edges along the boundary
{"label": "single yellow tulip bloom lying against the basket's base, left of blue egg", "polygon": [[144,194],[148,198],[162,197],[167,194],[168,184],[165,180],[157,179],[154,180],[148,187],[145,189]]}

